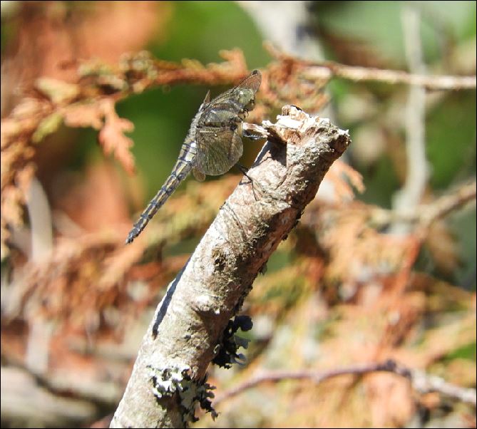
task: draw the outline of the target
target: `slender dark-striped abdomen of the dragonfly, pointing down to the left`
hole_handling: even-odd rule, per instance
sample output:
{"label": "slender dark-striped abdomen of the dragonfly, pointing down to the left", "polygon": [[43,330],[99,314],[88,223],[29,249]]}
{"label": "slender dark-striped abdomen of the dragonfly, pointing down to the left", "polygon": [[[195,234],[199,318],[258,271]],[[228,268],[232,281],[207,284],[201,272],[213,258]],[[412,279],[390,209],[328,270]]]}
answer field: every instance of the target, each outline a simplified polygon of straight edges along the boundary
{"label": "slender dark-striped abdomen of the dragonfly, pointing down to the left", "polygon": [[133,225],[133,229],[130,230],[128,238],[126,239],[126,244],[132,242],[135,237],[138,237],[150,219],[153,218],[160,207],[162,207],[168,200],[170,195],[173,195],[173,192],[178,188],[180,182],[182,182],[185,177],[187,177],[190,170],[192,170],[194,158],[195,145],[190,146],[187,143],[184,143],[168,180],[166,180],[164,185],[158,190],[155,197],[150,200],[148,207],[145,208],[137,222]]}

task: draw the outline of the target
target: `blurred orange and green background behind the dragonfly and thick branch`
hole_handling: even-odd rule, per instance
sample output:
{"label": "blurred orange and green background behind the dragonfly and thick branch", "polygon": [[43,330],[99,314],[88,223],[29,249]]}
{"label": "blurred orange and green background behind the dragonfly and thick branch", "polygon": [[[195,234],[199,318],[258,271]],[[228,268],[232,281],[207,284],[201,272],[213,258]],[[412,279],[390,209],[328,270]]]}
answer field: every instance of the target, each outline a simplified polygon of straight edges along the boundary
{"label": "blurred orange and green background behind the dragonfly and thick branch", "polygon": [[[195,426],[476,427],[474,1],[2,1],[2,427],[108,427],[242,175],[186,180],[124,239],[207,90],[254,68],[249,122],[294,104],[352,145],[255,281],[247,360],[211,366],[220,415]],[[244,146],[250,166],[262,140]],[[454,390],[354,371],[390,359]]]}

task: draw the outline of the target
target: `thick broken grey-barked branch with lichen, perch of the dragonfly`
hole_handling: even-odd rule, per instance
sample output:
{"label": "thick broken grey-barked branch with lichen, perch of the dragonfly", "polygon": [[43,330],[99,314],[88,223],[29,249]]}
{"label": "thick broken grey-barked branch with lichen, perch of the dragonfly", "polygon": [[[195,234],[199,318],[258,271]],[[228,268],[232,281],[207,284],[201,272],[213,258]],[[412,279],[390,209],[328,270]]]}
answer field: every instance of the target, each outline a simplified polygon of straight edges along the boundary
{"label": "thick broken grey-barked branch with lichen, perch of the dragonfly", "polygon": [[[207,366],[257,274],[350,143],[329,120],[284,106],[155,311],[111,428],[183,428],[207,398]],[[205,388],[204,388],[205,386]],[[201,390],[202,389],[202,390]]]}

